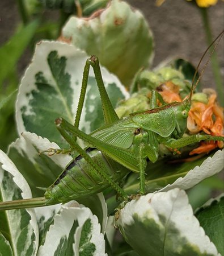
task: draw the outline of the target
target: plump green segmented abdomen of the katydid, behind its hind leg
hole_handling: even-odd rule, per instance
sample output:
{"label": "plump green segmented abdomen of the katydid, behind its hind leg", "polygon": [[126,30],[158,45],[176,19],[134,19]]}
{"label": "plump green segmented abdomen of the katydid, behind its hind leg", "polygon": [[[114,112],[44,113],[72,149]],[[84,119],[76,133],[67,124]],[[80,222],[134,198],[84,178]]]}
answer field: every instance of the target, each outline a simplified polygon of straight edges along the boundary
{"label": "plump green segmented abdomen of the katydid, behind its hind leg", "polygon": [[[113,181],[120,181],[130,170],[103,155],[96,148],[87,148],[87,154]],[[47,188],[44,196],[49,201],[65,202],[102,192],[109,184],[82,156],[67,164],[58,179]]]}

